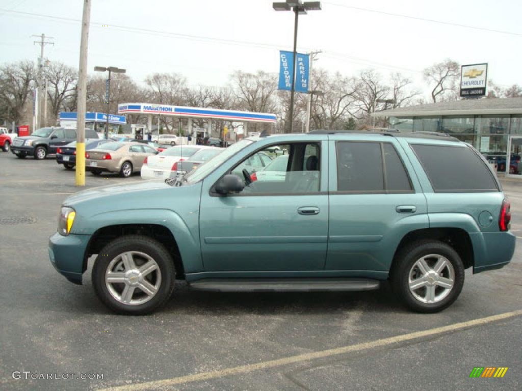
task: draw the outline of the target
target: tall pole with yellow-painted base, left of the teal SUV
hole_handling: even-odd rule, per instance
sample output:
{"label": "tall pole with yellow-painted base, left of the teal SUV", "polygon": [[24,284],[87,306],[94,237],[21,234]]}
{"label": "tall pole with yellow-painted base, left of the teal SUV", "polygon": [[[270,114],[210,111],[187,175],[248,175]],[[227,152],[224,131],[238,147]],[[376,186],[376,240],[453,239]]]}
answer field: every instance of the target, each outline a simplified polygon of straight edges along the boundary
{"label": "tall pole with yellow-painted base, left of the teal SUV", "polygon": [[[81,19],[80,66],[78,69],[78,117],[76,122],[76,186],[85,186],[85,101],[87,95],[87,52],[91,0],[84,0]],[[108,113],[109,114],[109,113]]]}

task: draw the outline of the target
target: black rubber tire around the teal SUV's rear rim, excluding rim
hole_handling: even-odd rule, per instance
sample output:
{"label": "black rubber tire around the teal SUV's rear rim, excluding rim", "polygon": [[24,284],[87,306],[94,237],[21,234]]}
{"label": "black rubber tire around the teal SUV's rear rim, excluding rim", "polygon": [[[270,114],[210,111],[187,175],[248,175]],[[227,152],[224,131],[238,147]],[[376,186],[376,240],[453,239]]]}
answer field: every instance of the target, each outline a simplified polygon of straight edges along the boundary
{"label": "black rubber tire around the teal SUV's rear rim, excluding rim", "polygon": [[[449,261],[451,266],[453,266],[454,278],[453,287],[449,290],[447,296],[440,301],[426,303],[413,296],[409,288],[409,277],[413,265],[424,256],[431,254],[442,255]],[[416,312],[434,313],[444,310],[457,300],[462,286],[464,286],[464,275],[462,260],[452,247],[441,241],[424,240],[410,243],[410,245],[397,253],[392,272],[390,273],[390,279],[396,295],[408,308]],[[422,288],[419,289],[422,292]],[[428,287],[424,289],[428,289]],[[443,288],[435,286],[434,289],[440,290]]]}

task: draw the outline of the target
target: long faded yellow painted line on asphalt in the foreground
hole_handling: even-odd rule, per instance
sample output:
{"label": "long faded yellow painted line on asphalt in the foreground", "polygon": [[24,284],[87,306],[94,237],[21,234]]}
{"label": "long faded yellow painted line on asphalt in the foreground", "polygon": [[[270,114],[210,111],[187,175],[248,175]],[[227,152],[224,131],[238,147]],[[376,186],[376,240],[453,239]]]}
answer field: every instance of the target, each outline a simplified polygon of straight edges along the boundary
{"label": "long faded yellow painted line on asphalt in the foreground", "polygon": [[276,360],[262,361],[262,362],[258,362],[255,364],[233,366],[232,368],[225,368],[225,369],[216,370],[216,371],[194,373],[191,375],[172,377],[172,378],[145,382],[145,383],[136,383],[136,384],[128,384],[128,385],[115,386],[115,387],[109,387],[109,388],[102,388],[102,389],[99,389],[98,391],[138,391],[138,390],[145,390],[145,389],[157,389],[157,388],[163,388],[163,387],[170,387],[170,386],[173,386],[176,384],[201,382],[201,381],[206,381],[206,380],[210,380],[213,378],[220,378],[220,377],[225,377],[225,376],[230,376],[230,375],[238,375],[238,374],[268,369],[268,368],[275,368],[277,366],[290,365],[290,364],[304,362],[304,361],[311,361],[311,360],[317,360],[317,359],[342,355],[342,354],[350,353],[350,352],[358,352],[358,351],[367,350],[367,349],[374,349],[374,348],[378,348],[378,347],[382,347],[382,346],[397,344],[399,342],[409,341],[412,339],[431,337],[431,336],[438,335],[438,334],[459,331],[459,330],[469,328],[469,327],[480,326],[480,325],[484,325],[484,324],[488,324],[488,323],[492,323],[492,322],[498,322],[501,320],[509,319],[511,317],[520,316],[520,315],[522,315],[522,310],[505,312],[505,313],[498,314],[498,315],[481,317],[479,319],[474,319],[471,321],[454,323],[454,324],[450,324],[447,326],[435,327],[435,328],[431,328],[431,329],[424,330],[424,331],[397,335],[395,337],[377,339],[374,341],[364,342],[361,344],[343,346],[340,348],[321,350],[321,351],[316,351],[316,352],[311,352],[311,353],[304,353],[302,355],[290,356],[290,357],[285,357],[285,358],[276,359]]}

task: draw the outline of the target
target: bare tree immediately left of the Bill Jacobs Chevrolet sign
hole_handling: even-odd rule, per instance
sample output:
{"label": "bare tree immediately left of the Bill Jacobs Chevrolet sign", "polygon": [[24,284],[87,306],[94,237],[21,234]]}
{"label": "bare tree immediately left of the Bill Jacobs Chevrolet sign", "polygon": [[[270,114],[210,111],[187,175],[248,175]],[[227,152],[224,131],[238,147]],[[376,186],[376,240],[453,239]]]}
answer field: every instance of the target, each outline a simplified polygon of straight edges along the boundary
{"label": "bare tree immediately left of the Bill Jacobs Chevrolet sign", "polygon": [[456,100],[460,65],[452,59],[433,64],[424,69],[424,80],[430,84],[433,103],[441,100]]}

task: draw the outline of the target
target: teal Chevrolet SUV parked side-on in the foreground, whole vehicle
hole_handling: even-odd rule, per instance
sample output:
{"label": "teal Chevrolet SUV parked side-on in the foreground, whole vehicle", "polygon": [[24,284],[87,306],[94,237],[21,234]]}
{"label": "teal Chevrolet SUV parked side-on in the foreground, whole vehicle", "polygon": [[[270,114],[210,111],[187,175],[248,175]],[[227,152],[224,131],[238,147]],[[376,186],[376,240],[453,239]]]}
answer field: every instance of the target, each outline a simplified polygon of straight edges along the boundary
{"label": "teal Chevrolet SUV parked side-on in the foreground, whole vehicle", "polygon": [[[278,175],[247,164],[288,155]],[[272,173],[273,174],[273,173]],[[386,280],[410,309],[452,304],[465,269],[505,266],[509,202],[469,144],[442,134],[316,131],[241,140],[184,177],[81,191],[49,256],[106,306],[145,314],[175,279],[213,291],[352,291]]]}

